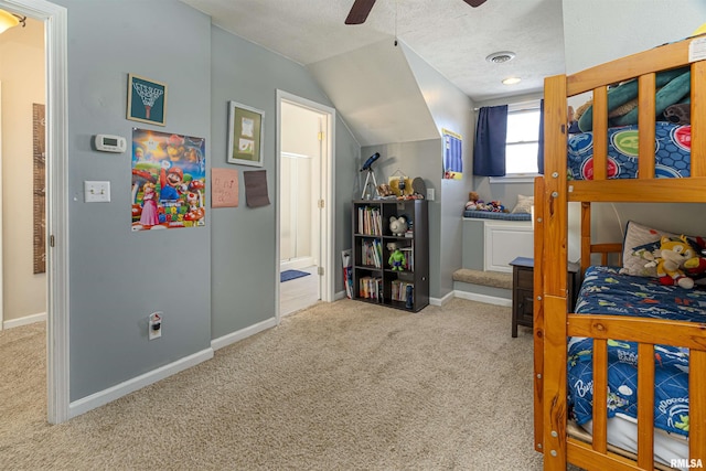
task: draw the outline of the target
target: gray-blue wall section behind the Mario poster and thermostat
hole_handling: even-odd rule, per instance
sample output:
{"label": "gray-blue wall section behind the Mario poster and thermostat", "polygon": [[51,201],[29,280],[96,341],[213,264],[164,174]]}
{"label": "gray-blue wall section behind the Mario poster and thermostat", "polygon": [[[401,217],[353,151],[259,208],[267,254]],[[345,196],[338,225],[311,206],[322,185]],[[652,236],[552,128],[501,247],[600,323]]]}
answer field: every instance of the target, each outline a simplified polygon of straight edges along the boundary
{"label": "gray-blue wall section behind the Mario poster and thermostat", "polygon": [[[132,233],[131,163],[90,138],[131,138],[127,74],[167,83],[167,126],[205,137],[211,161],[211,21],[179,1],[60,0],[68,10],[71,400],[211,345],[211,233],[206,226]],[[110,203],[84,202],[85,180],[107,180]],[[163,311],[160,341],[147,317]]]}

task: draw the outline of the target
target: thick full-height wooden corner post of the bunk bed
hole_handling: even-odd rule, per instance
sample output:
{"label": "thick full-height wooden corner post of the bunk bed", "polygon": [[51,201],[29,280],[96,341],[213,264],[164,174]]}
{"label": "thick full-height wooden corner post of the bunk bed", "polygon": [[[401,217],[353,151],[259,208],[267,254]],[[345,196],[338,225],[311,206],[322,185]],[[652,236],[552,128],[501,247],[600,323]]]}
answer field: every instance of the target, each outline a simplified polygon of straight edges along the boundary
{"label": "thick full-height wooden corner post of the bunk bed", "polygon": [[[567,334],[567,194],[566,75],[544,82],[544,192],[542,200],[543,253],[542,303],[544,304],[543,440],[544,469],[566,469],[566,334]],[[536,263],[536,260],[535,260]]]}

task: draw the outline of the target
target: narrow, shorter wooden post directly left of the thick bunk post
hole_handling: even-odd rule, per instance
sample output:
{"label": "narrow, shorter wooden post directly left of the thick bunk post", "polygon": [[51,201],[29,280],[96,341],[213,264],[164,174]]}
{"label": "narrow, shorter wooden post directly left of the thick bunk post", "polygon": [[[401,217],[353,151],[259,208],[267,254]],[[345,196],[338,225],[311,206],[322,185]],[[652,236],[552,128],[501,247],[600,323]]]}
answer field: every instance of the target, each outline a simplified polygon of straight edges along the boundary
{"label": "narrow, shorter wooden post directly left of the thick bunk post", "polygon": [[533,302],[533,334],[534,334],[534,449],[542,450],[542,420],[544,387],[544,176],[534,179],[534,302]]}

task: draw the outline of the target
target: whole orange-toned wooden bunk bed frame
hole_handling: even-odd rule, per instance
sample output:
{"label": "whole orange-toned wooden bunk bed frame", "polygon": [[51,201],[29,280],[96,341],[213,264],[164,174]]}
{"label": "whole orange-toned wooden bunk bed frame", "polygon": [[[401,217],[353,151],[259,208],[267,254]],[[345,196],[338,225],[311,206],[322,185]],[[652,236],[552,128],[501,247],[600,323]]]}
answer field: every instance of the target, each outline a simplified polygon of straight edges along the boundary
{"label": "whole orange-toned wooden bunk bed frame", "polygon": [[[574,75],[545,81],[545,169],[535,180],[534,386],[535,449],[544,453],[545,470],[564,470],[567,462],[587,470],[651,470],[654,462],[655,345],[689,349],[688,461],[706,468],[706,323],[642,317],[577,314],[568,311],[568,203],[578,202],[581,269],[591,254],[620,251],[620,244],[592,244],[593,202],[706,202],[706,61],[689,57],[686,39],[606,63]],[[696,44],[695,44],[696,45]],[[691,69],[691,175],[655,178],[655,76],[662,71]],[[609,86],[637,78],[639,98],[638,178],[608,178]],[[592,93],[592,180],[567,178],[568,97]],[[703,217],[703,216],[702,216]],[[593,257],[596,259],[596,257]],[[705,318],[706,322],[706,318]],[[571,433],[567,404],[568,338],[593,339],[592,435]],[[607,438],[607,344],[611,339],[638,346],[637,453],[612,447]],[[663,467],[668,469],[668,467]]]}

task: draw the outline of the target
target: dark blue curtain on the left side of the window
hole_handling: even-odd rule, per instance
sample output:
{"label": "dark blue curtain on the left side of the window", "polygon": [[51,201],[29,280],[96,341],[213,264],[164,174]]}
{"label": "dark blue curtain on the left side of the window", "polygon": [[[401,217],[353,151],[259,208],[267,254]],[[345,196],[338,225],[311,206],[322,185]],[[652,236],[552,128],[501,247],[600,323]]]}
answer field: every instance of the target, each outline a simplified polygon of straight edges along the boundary
{"label": "dark blue curtain on the left side of the window", "polygon": [[503,176],[505,174],[505,141],[507,140],[507,105],[486,106],[478,111],[473,174]]}

